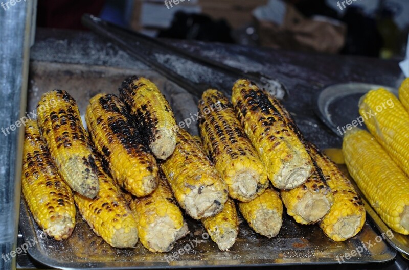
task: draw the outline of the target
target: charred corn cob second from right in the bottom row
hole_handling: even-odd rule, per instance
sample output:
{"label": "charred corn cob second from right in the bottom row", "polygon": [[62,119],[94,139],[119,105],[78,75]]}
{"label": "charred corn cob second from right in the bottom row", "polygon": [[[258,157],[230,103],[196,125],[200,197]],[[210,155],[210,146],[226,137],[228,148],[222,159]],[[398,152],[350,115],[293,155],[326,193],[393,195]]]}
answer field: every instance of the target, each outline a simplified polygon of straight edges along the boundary
{"label": "charred corn cob second from right in the bottom row", "polygon": [[[269,94],[267,96],[271,104],[281,114],[285,123],[297,135],[311,156],[307,140],[298,128],[296,121],[294,121],[279,100]],[[311,224],[319,221],[328,213],[334,201],[331,188],[327,184],[323,171],[315,160],[311,159],[313,170],[307,181],[294,189],[281,191],[281,198],[287,208],[287,214],[301,224]]]}

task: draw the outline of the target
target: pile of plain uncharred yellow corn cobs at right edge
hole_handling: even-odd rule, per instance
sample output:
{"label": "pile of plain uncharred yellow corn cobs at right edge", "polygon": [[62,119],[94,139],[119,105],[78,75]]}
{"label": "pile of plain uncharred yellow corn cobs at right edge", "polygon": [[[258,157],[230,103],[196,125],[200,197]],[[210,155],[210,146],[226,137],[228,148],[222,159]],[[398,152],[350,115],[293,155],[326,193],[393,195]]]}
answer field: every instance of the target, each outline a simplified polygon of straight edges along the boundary
{"label": "pile of plain uncharred yellow corn cobs at right edge", "polygon": [[354,128],[346,133],[343,143],[348,170],[371,206],[392,230],[406,235],[409,234],[408,97],[409,79],[399,88],[400,100],[382,88],[368,92],[359,101],[359,113],[366,118],[370,133]]}

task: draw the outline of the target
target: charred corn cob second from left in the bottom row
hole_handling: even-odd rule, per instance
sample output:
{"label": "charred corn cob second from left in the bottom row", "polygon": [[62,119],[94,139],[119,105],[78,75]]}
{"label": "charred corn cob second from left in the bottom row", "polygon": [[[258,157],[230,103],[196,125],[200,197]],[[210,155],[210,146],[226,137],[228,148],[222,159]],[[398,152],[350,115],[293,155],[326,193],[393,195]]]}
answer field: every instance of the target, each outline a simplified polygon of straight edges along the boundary
{"label": "charred corn cob second from left in the bottom row", "polygon": [[94,199],[74,193],[74,200],[89,227],[105,242],[116,248],[132,248],[138,242],[138,230],[129,206],[116,183],[105,173],[99,157],[99,192]]}

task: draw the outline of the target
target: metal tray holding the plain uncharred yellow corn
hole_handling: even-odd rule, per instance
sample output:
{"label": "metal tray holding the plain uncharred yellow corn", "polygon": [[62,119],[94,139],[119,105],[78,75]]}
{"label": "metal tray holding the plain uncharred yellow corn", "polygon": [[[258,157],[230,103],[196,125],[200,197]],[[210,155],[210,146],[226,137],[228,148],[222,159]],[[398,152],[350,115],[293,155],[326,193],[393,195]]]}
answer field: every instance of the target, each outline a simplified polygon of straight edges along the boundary
{"label": "metal tray holding the plain uncharred yellow corn", "polygon": [[[316,113],[332,131],[338,136],[342,136],[337,131],[337,127],[343,127],[356,119],[359,116],[358,101],[360,97],[368,91],[378,88],[385,88],[395,95],[398,93],[397,89],[382,85],[364,83],[332,85],[325,88],[320,93],[317,100]],[[361,128],[365,128],[365,125]],[[357,190],[359,191],[359,188],[357,188]],[[362,193],[361,196],[365,201],[365,209],[373,219],[376,228],[378,228],[381,233],[390,230],[388,226],[383,223],[382,219],[374,211]],[[392,239],[387,238],[387,241],[397,251],[409,255],[409,235],[403,235],[397,232],[393,233],[394,237]]]}

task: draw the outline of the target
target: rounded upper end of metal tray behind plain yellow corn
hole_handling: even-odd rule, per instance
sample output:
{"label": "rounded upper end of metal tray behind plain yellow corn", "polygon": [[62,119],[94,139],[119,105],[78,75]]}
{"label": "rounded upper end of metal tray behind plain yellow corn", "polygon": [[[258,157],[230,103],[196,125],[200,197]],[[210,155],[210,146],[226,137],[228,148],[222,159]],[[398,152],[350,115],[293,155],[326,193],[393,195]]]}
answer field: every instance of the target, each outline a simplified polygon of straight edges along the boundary
{"label": "rounded upper end of metal tray behind plain yellow corn", "polygon": [[[343,136],[343,131],[339,128],[351,124],[359,117],[358,102],[362,95],[370,90],[385,88],[392,93],[398,90],[389,86],[366,84],[366,83],[345,83],[335,84],[326,87],[318,96],[315,112],[320,119],[336,135]],[[365,128],[363,125],[361,128]]]}

